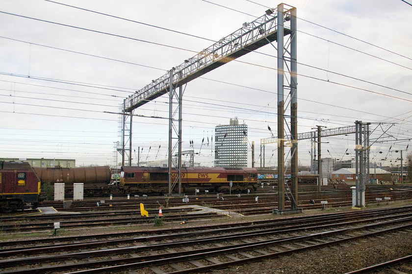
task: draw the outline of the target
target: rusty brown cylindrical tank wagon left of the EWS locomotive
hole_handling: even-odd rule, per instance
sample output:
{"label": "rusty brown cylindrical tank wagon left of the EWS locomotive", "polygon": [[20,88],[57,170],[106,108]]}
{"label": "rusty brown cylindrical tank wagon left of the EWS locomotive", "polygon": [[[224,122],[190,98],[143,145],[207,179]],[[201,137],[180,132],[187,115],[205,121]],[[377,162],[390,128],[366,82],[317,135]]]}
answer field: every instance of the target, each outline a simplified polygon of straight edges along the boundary
{"label": "rusty brown cylindrical tank wagon left of the EWS locomotive", "polygon": [[[111,172],[109,166],[91,167],[34,167],[34,171],[43,183],[109,183]],[[57,181],[58,180],[58,181]]]}

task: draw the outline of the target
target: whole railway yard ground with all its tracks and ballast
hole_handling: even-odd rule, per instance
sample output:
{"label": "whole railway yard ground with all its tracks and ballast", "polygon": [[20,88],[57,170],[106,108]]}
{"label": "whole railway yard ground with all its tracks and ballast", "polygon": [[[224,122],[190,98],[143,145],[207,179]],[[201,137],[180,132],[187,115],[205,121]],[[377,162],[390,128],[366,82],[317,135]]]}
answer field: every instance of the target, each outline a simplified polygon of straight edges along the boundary
{"label": "whole railway yard ground with all its tracks and ballast", "polygon": [[45,201],[1,215],[0,273],[412,273],[412,185],[367,185],[361,209],[350,185],[299,185],[301,214],[272,214],[276,197]]}

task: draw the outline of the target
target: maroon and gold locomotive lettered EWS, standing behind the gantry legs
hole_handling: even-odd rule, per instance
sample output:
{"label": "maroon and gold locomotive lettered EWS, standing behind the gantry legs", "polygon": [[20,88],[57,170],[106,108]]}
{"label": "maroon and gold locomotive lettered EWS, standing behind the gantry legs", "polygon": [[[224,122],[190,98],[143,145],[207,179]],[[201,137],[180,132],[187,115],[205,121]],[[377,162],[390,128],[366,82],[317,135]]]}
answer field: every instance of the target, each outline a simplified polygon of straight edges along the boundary
{"label": "maroon and gold locomotive lettered EWS, standing behind the gantry legs", "polygon": [[[182,167],[181,191],[194,193],[230,191],[232,193],[254,191],[257,188],[258,172],[255,168],[221,168],[221,167]],[[176,170],[172,171],[172,178],[176,179]],[[169,193],[169,168],[123,166],[120,176],[120,185],[129,194]],[[176,184],[173,192],[179,190]]]}

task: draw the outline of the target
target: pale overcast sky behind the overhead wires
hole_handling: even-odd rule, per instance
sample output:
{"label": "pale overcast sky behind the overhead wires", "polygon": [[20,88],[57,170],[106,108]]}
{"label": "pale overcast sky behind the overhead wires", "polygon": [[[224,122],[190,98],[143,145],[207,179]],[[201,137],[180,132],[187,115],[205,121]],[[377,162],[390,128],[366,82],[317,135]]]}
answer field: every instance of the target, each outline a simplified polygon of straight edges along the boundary
{"label": "pale overcast sky behind the overhead wires", "polygon": [[[111,165],[120,124],[117,114],[104,112],[119,112],[124,98],[279,3],[0,0],[0,158]],[[298,132],[356,120],[386,123],[378,137],[395,123],[383,136],[387,142],[371,147],[371,161],[400,164],[393,150],[406,150],[412,129],[412,6],[402,0],[285,3],[298,16]],[[277,59],[268,55],[277,52],[271,45],[258,52],[238,59],[251,64],[230,62],[185,87],[183,150],[193,140],[200,152],[195,162],[213,166],[214,127],[237,117],[248,125],[259,166],[260,138],[271,137],[268,126],[276,136]],[[168,96],[134,114],[168,117]],[[323,157],[355,156],[353,135],[322,141],[329,142]],[[140,161],[165,159],[167,142],[167,120],[133,119],[133,164],[138,147]],[[275,149],[267,146],[266,166],[277,165]],[[309,141],[299,142],[300,164],[309,164],[309,150]]]}

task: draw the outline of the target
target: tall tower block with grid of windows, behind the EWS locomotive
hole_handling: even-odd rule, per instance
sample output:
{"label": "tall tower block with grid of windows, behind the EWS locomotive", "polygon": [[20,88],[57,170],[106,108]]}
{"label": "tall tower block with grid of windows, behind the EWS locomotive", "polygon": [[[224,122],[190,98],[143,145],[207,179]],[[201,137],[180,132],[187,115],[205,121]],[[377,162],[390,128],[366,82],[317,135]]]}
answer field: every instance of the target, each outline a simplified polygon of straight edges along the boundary
{"label": "tall tower block with grid of windows, behind the EWS locomotive", "polygon": [[215,127],[215,166],[247,167],[248,126],[237,117],[229,125]]}

